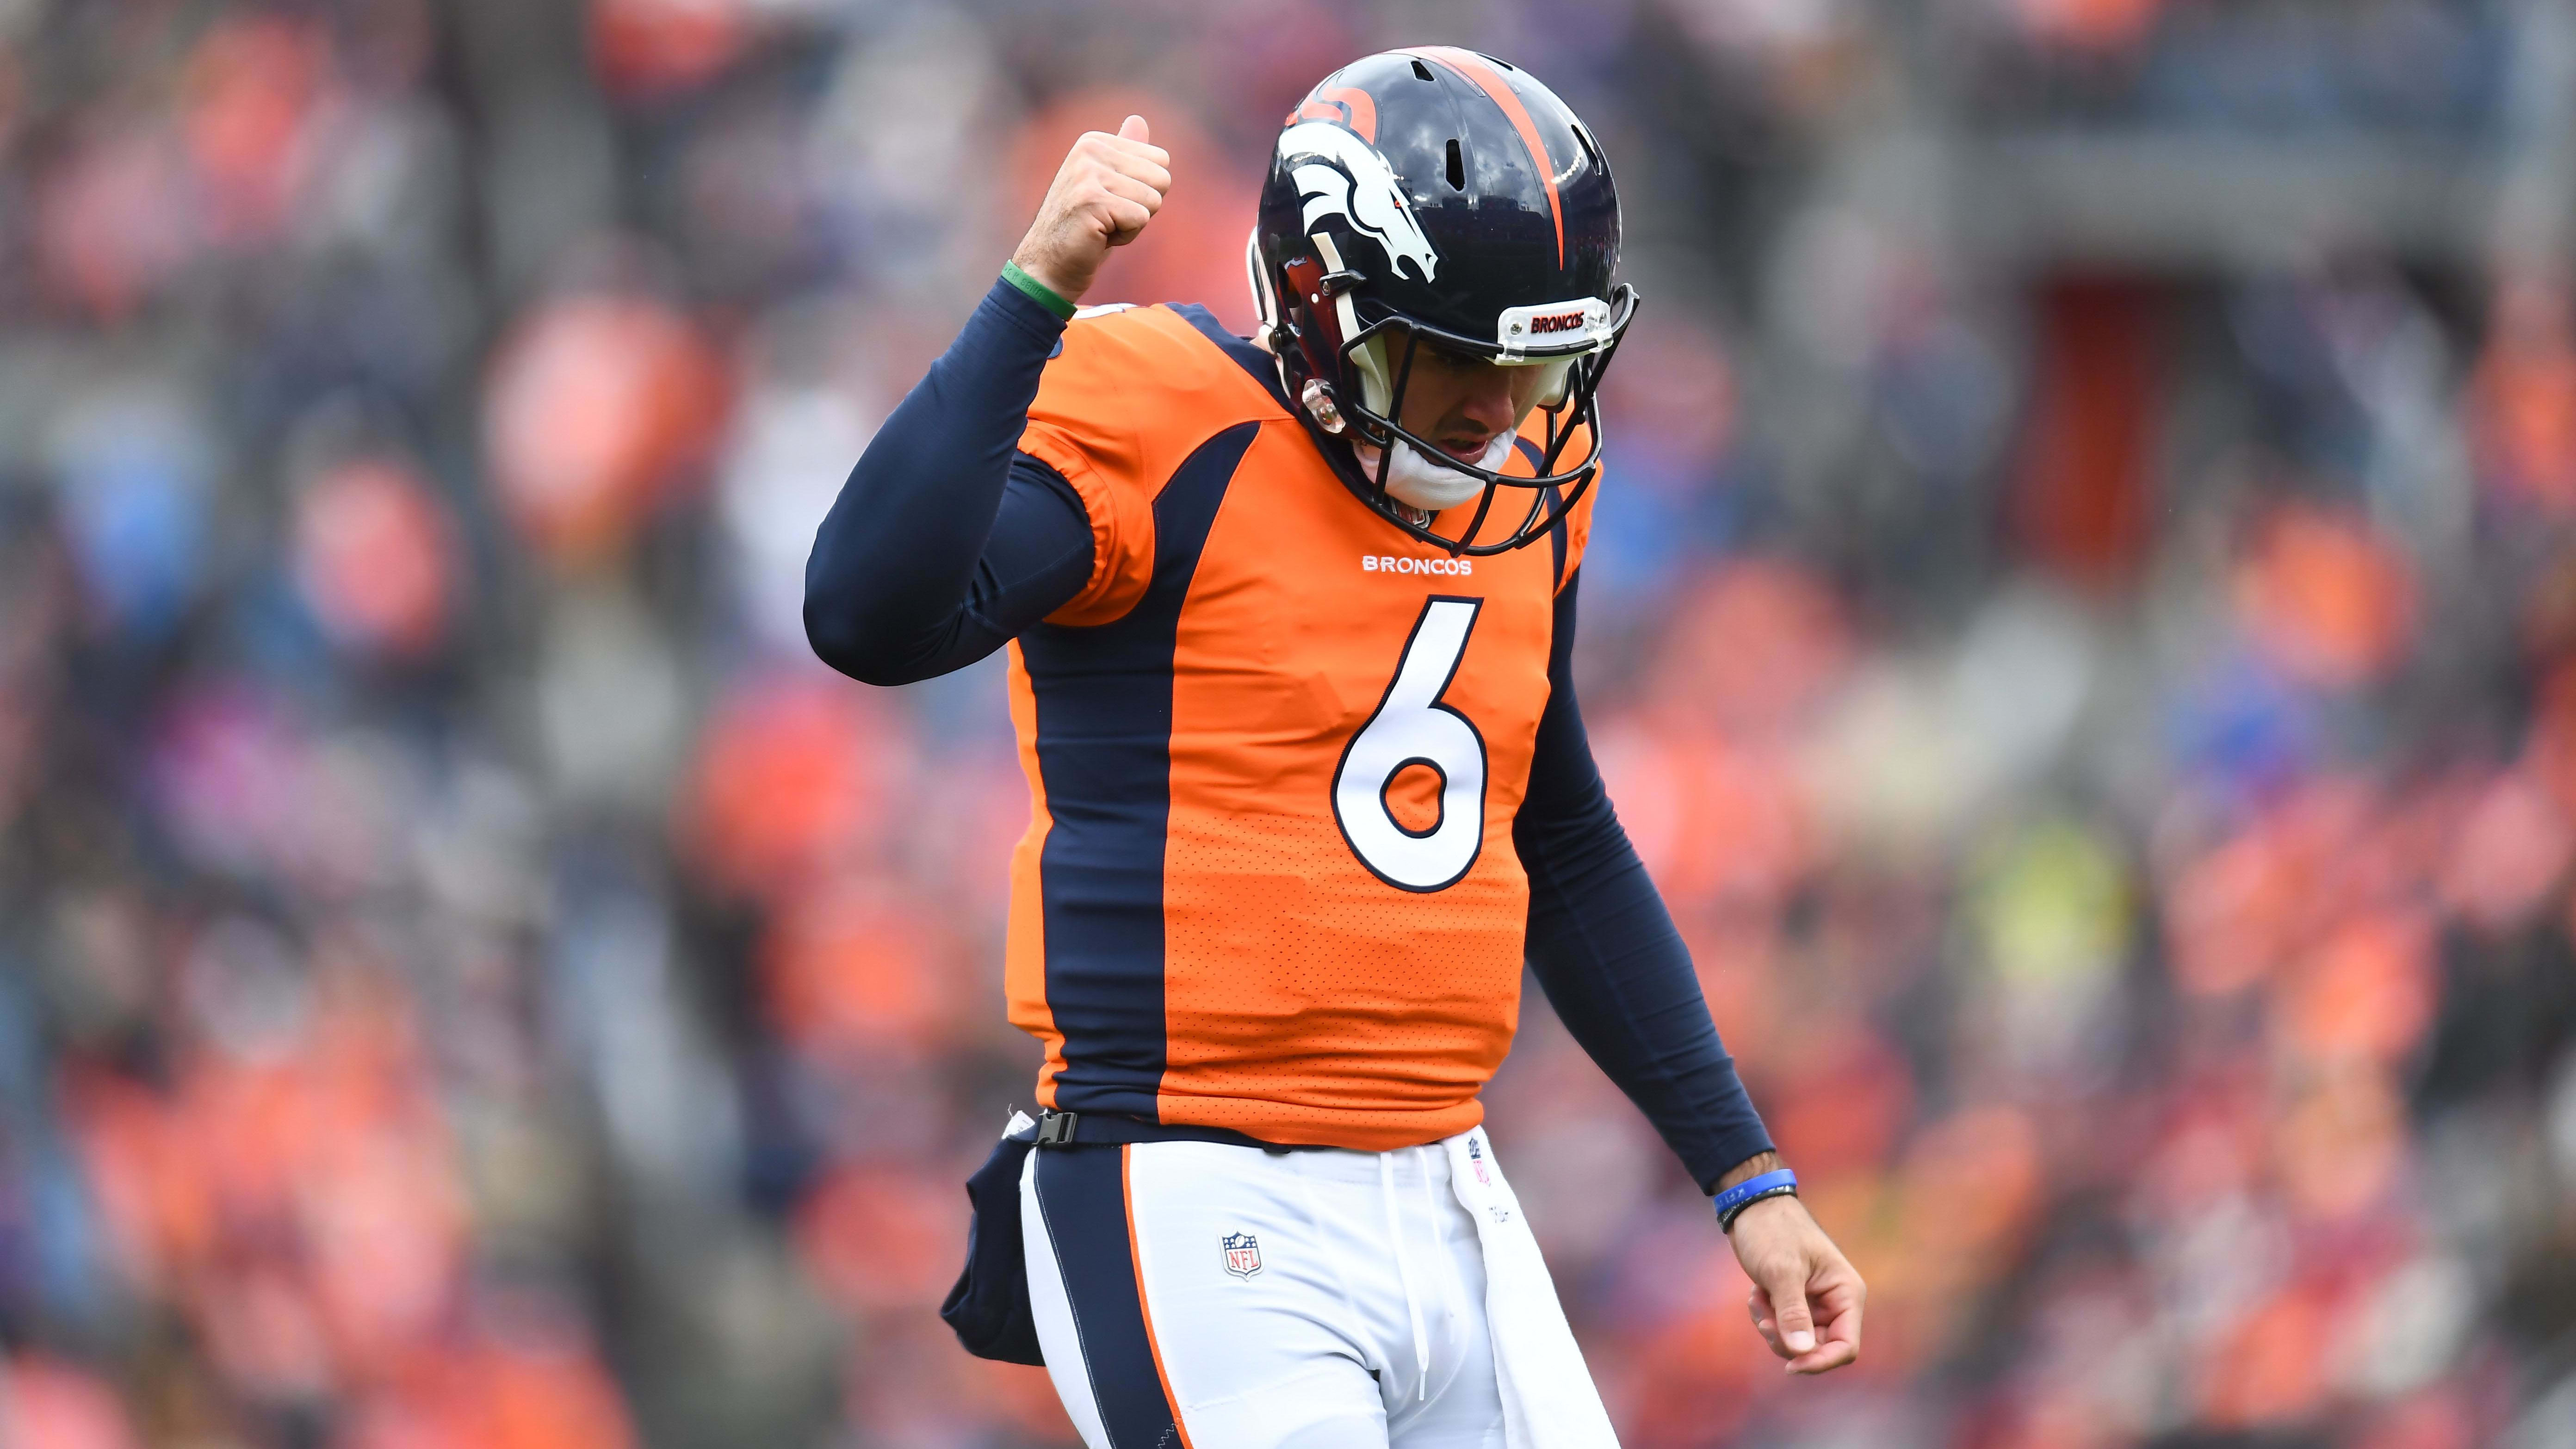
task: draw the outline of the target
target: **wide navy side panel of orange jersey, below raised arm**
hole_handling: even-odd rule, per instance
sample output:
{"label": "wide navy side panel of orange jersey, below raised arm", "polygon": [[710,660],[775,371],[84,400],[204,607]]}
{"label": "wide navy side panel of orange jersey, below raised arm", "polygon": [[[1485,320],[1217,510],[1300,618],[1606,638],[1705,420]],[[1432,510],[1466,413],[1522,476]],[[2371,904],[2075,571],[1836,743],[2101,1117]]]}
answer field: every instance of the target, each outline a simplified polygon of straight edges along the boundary
{"label": "wide navy side panel of orange jersey, below raised arm", "polygon": [[1260,423],[1198,446],[1154,498],[1154,578],[1115,624],[1020,634],[1054,825],[1038,851],[1059,1111],[1159,1122],[1162,851],[1172,822],[1172,637],[1226,482]]}

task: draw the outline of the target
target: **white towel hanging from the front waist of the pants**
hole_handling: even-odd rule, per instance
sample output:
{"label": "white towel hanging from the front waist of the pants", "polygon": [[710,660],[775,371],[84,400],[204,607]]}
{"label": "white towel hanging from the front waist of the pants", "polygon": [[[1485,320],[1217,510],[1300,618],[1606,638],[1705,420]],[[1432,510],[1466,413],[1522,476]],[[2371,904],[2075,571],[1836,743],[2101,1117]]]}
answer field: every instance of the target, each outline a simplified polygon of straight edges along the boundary
{"label": "white towel hanging from the front waist of the pants", "polygon": [[1502,1379],[1502,1434],[1510,1449],[1618,1449],[1584,1351],[1574,1346],[1566,1310],[1556,1302],[1538,1238],[1520,1214],[1512,1183],[1502,1181],[1484,1129],[1443,1142],[1450,1186],[1484,1245],[1484,1315],[1494,1333],[1494,1377]]}

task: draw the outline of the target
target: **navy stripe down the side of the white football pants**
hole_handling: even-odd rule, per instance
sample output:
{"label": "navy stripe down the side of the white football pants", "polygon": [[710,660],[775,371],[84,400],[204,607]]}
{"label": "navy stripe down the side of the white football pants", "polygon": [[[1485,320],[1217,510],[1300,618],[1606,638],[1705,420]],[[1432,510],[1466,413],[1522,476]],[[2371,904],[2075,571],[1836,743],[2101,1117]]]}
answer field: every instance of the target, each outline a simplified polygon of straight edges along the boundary
{"label": "navy stripe down the side of the white football pants", "polygon": [[1180,1449],[1180,1426],[1144,1328],[1144,1289],[1126,1220],[1126,1150],[1038,1147],[1038,1209],[1064,1297],[1074,1305],[1082,1372],[1110,1449]]}

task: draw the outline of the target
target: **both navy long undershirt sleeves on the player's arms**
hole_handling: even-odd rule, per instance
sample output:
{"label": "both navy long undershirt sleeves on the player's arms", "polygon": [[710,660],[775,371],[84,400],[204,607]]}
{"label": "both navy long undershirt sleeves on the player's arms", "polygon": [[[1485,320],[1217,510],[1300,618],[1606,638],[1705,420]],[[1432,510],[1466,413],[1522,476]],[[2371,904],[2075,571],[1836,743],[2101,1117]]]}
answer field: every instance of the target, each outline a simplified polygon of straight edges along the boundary
{"label": "both navy long undershirt sleeves on the player's arms", "polygon": [[[806,637],[866,683],[999,650],[1092,572],[1074,490],[1018,451],[1064,322],[994,284],[850,469],[806,562]],[[1574,701],[1574,598],[1556,596],[1548,709],[1512,846],[1530,874],[1528,957],[1574,1039],[1700,1183],[1770,1150],[1654,879],[1620,830]]]}

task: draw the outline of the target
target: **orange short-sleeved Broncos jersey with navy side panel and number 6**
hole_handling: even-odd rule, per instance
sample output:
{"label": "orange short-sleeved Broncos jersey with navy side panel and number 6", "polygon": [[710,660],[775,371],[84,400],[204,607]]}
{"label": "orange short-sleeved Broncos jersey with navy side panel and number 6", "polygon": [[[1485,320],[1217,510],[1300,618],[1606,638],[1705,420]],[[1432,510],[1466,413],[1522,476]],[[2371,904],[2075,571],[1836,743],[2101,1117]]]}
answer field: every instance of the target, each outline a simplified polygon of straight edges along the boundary
{"label": "orange short-sleeved Broncos jersey with navy side panel and number 6", "polygon": [[1432,1142],[1520,1021],[1512,815],[1592,498],[1453,559],[1350,495],[1273,376],[1195,307],[1079,317],[1046,364],[1020,451],[1082,495],[1092,575],[1010,645],[1010,1018],[1059,1111]]}

